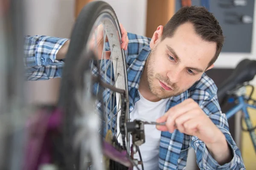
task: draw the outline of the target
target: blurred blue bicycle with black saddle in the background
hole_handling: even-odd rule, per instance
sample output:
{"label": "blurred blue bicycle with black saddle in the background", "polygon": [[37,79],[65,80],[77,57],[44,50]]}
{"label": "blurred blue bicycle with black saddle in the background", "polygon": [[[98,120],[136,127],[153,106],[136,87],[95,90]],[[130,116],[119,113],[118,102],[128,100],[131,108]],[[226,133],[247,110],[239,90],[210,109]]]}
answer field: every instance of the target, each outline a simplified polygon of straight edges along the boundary
{"label": "blurred blue bicycle with black saddle in the background", "polygon": [[[250,133],[250,138],[252,139],[253,146],[256,152],[256,126],[250,119],[247,108],[256,109],[256,100],[252,99],[252,94],[254,91],[253,85],[249,82],[256,75],[256,60],[244,59],[236,66],[230,77],[226,79],[218,88],[218,99],[220,105],[223,106],[225,103],[235,103],[236,105],[227,111],[227,119],[234,116],[238,111],[242,111],[242,119],[244,119],[247,128],[244,128],[241,124],[241,128],[244,131]],[[246,95],[246,87],[251,87],[250,95]]]}

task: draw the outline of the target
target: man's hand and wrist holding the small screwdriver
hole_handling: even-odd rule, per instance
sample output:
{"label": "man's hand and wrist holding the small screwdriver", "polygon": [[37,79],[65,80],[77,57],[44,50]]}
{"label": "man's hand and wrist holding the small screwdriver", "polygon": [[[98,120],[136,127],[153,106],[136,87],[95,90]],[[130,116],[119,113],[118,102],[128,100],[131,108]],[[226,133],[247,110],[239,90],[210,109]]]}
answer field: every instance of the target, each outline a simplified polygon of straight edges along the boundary
{"label": "man's hand and wrist holding the small screwdriver", "polygon": [[206,144],[209,153],[219,164],[231,160],[232,153],[224,134],[193,99],[186,99],[170,108],[157,122],[166,122],[164,126],[157,126],[158,130],[173,133],[177,129],[181,133],[197,136]]}

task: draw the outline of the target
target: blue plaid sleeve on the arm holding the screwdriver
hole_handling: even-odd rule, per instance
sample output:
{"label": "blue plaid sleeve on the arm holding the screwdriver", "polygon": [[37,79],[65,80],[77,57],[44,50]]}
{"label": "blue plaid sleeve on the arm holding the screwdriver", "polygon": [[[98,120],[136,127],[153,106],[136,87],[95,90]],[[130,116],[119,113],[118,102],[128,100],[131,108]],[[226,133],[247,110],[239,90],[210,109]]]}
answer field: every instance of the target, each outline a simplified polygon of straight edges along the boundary
{"label": "blue plaid sleeve on the arm holding the screwdriver", "polygon": [[192,136],[191,146],[196,151],[198,167],[204,170],[245,170],[244,162],[241,158],[241,151],[236,146],[229,132],[227,117],[221,112],[217,95],[215,94],[211,99],[205,101],[201,108],[207,113],[221,132],[224,133],[227,143],[232,150],[233,159],[226,164],[218,164],[218,162],[212,158],[204,142],[199,140],[198,137]]}

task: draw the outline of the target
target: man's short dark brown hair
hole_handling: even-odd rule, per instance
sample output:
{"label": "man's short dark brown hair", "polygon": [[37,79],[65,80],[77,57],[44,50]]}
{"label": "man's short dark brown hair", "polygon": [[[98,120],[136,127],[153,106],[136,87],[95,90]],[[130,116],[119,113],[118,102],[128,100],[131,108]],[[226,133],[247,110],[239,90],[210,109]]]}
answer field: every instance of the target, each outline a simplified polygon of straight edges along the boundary
{"label": "man's short dark brown hair", "polygon": [[215,56],[209,62],[212,65],[218,58],[224,43],[224,36],[218,20],[206,8],[199,6],[186,6],[180,8],[163,27],[162,40],[172,37],[178,26],[190,22],[195,32],[208,42],[216,42]]}

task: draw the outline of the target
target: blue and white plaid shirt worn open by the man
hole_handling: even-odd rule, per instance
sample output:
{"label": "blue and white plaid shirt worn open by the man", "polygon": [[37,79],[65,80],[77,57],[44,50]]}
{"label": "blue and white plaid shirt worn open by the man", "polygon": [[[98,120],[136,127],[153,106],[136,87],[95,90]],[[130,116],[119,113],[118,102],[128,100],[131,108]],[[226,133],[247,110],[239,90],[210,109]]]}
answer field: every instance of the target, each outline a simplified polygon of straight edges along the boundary
{"label": "blue and white plaid shirt worn open by the man", "polygon": [[[134,104],[140,97],[138,88],[140,77],[151,49],[150,38],[128,33],[128,50],[125,51],[128,73],[129,109],[134,109]],[[25,65],[27,80],[41,80],[61,77],[64,62],[55,60],[58,49],[67,39],[35,36],[26,37]],[[187,91],[179,96],[169,98],[166,111],[172,106],[183,102],[185,99],[194,99],[212,122],[224,133],[227,143],[233,150],[233,159],[224,165],[218,164],[208,152],[206,145],[196,136],[189,136],[175,130],[173,133],[162,132],[160,139],[159,169],[182,170],[186,167],[189,147],[196,152],[197,164],[200,169],[206,170],[241,170],[244,163],[241,152],[232,139],[227,118],[221,112],[217,99],[217,87],[206,74]]]}

